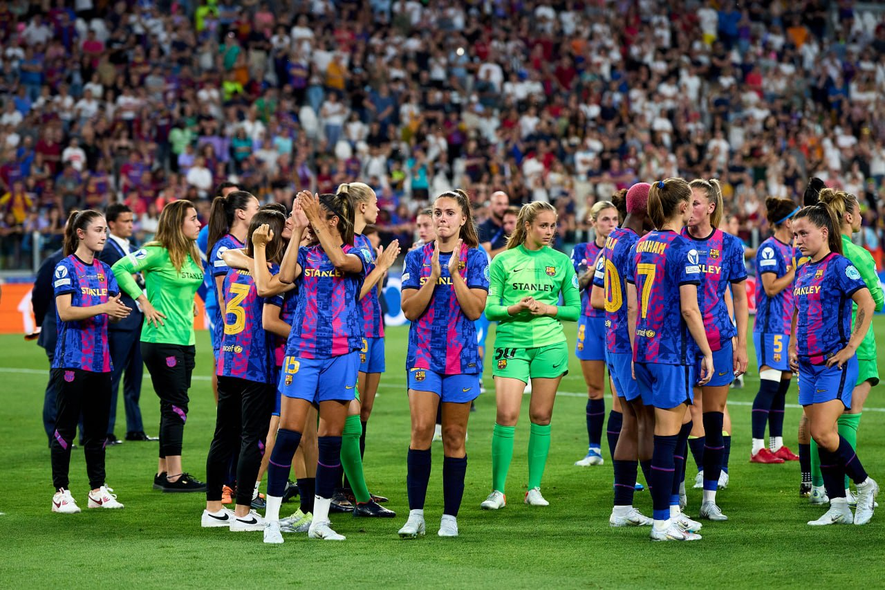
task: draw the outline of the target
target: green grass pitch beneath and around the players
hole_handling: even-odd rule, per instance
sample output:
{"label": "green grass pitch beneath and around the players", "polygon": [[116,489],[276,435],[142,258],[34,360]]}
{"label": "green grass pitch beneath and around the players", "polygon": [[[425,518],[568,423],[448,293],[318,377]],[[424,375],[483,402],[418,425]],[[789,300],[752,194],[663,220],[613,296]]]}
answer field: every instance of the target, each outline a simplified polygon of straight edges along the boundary
{"label": "green grass pitch beneath and around the players", "polygon": [[[874,318],[885,342],[885,317]],[[494,329],[493,329],[494,330]],[[528,396],[517,428],[508,480],[506,508],[480,509],[491,479],[491,432],[495,394],[476,400],[470,416],[469,465],[464,503],[458,515],[460,537],[436,536],[443,508],[443,447],[434,443],[434,468],[427,493],[427,537],[400,540],[396,531],[408,515],[405,457],[409,445],[409,408],[403,357],[406,329],[390,328],[389,372],[381,379],[366,441],[366,479],[370,488],[389,496],[394,519],[333,516],[342,543],[286,535],[281,546],[266,546],[261,532],[232,533],[201,529],[204,495],[164,494],[151,489],[157,443],[127,442],[107,449],[108,484],[126,504],[123,510],[89,510],[83,454],[71,462],[71,486],[79,515],[50,512],[52,495],[49,451],[42,431],[41,408],[46,383],[42,349],[20,336],[0,337],[0,587],[173,587],[275,588],[285,586],[424,586],[424,587],[855,587],[881,586],[885,579],[885,504],[866,526],[812,528],[806,521],[823,508],[799,498],[797,462],[756,465],[750,451],[750,404],[758,387],[753,352],[750,374],[730,395],[735,424],[731,483],[718,500],[726,523],[704,523],[704,539],[689,544],[651,543],[649,529],[612,529],[612,465],[574,467],[587,449],[586,397],[581,369],[571,359],[553,413],[550,460],[543,477],[548,508],[523,504],[527,481]],[[574,326],[568,326],[574,345]],[[489,345],[494,343],[494,331]],[[209,376],[211,348],[198,336],[197,365],[185,429],[184,468],[205,475],[215,408]],[[880,372],[885,366],[880,362]],[[797,388],[789,390],[785,439],[797,450],[800,410]],[[142,415],[146,430],[158,430],[158,400],[145,372]],[[606,409],[611,401],[606,399]],[[860,456],[885,489],[885,386],[873,389],[858,439]],[[117,434],[126,422],[122,394]],[[604,443],[605,445],[605,443]],[[700,490],[690,489],[695,475],[689,458],[690,516],[697,515]],[[880,502],[885,501],[885,494]],[[649,493],[635,495],[635,506],[651,514]],[[283,513],[297,508],[283,505]]]}

